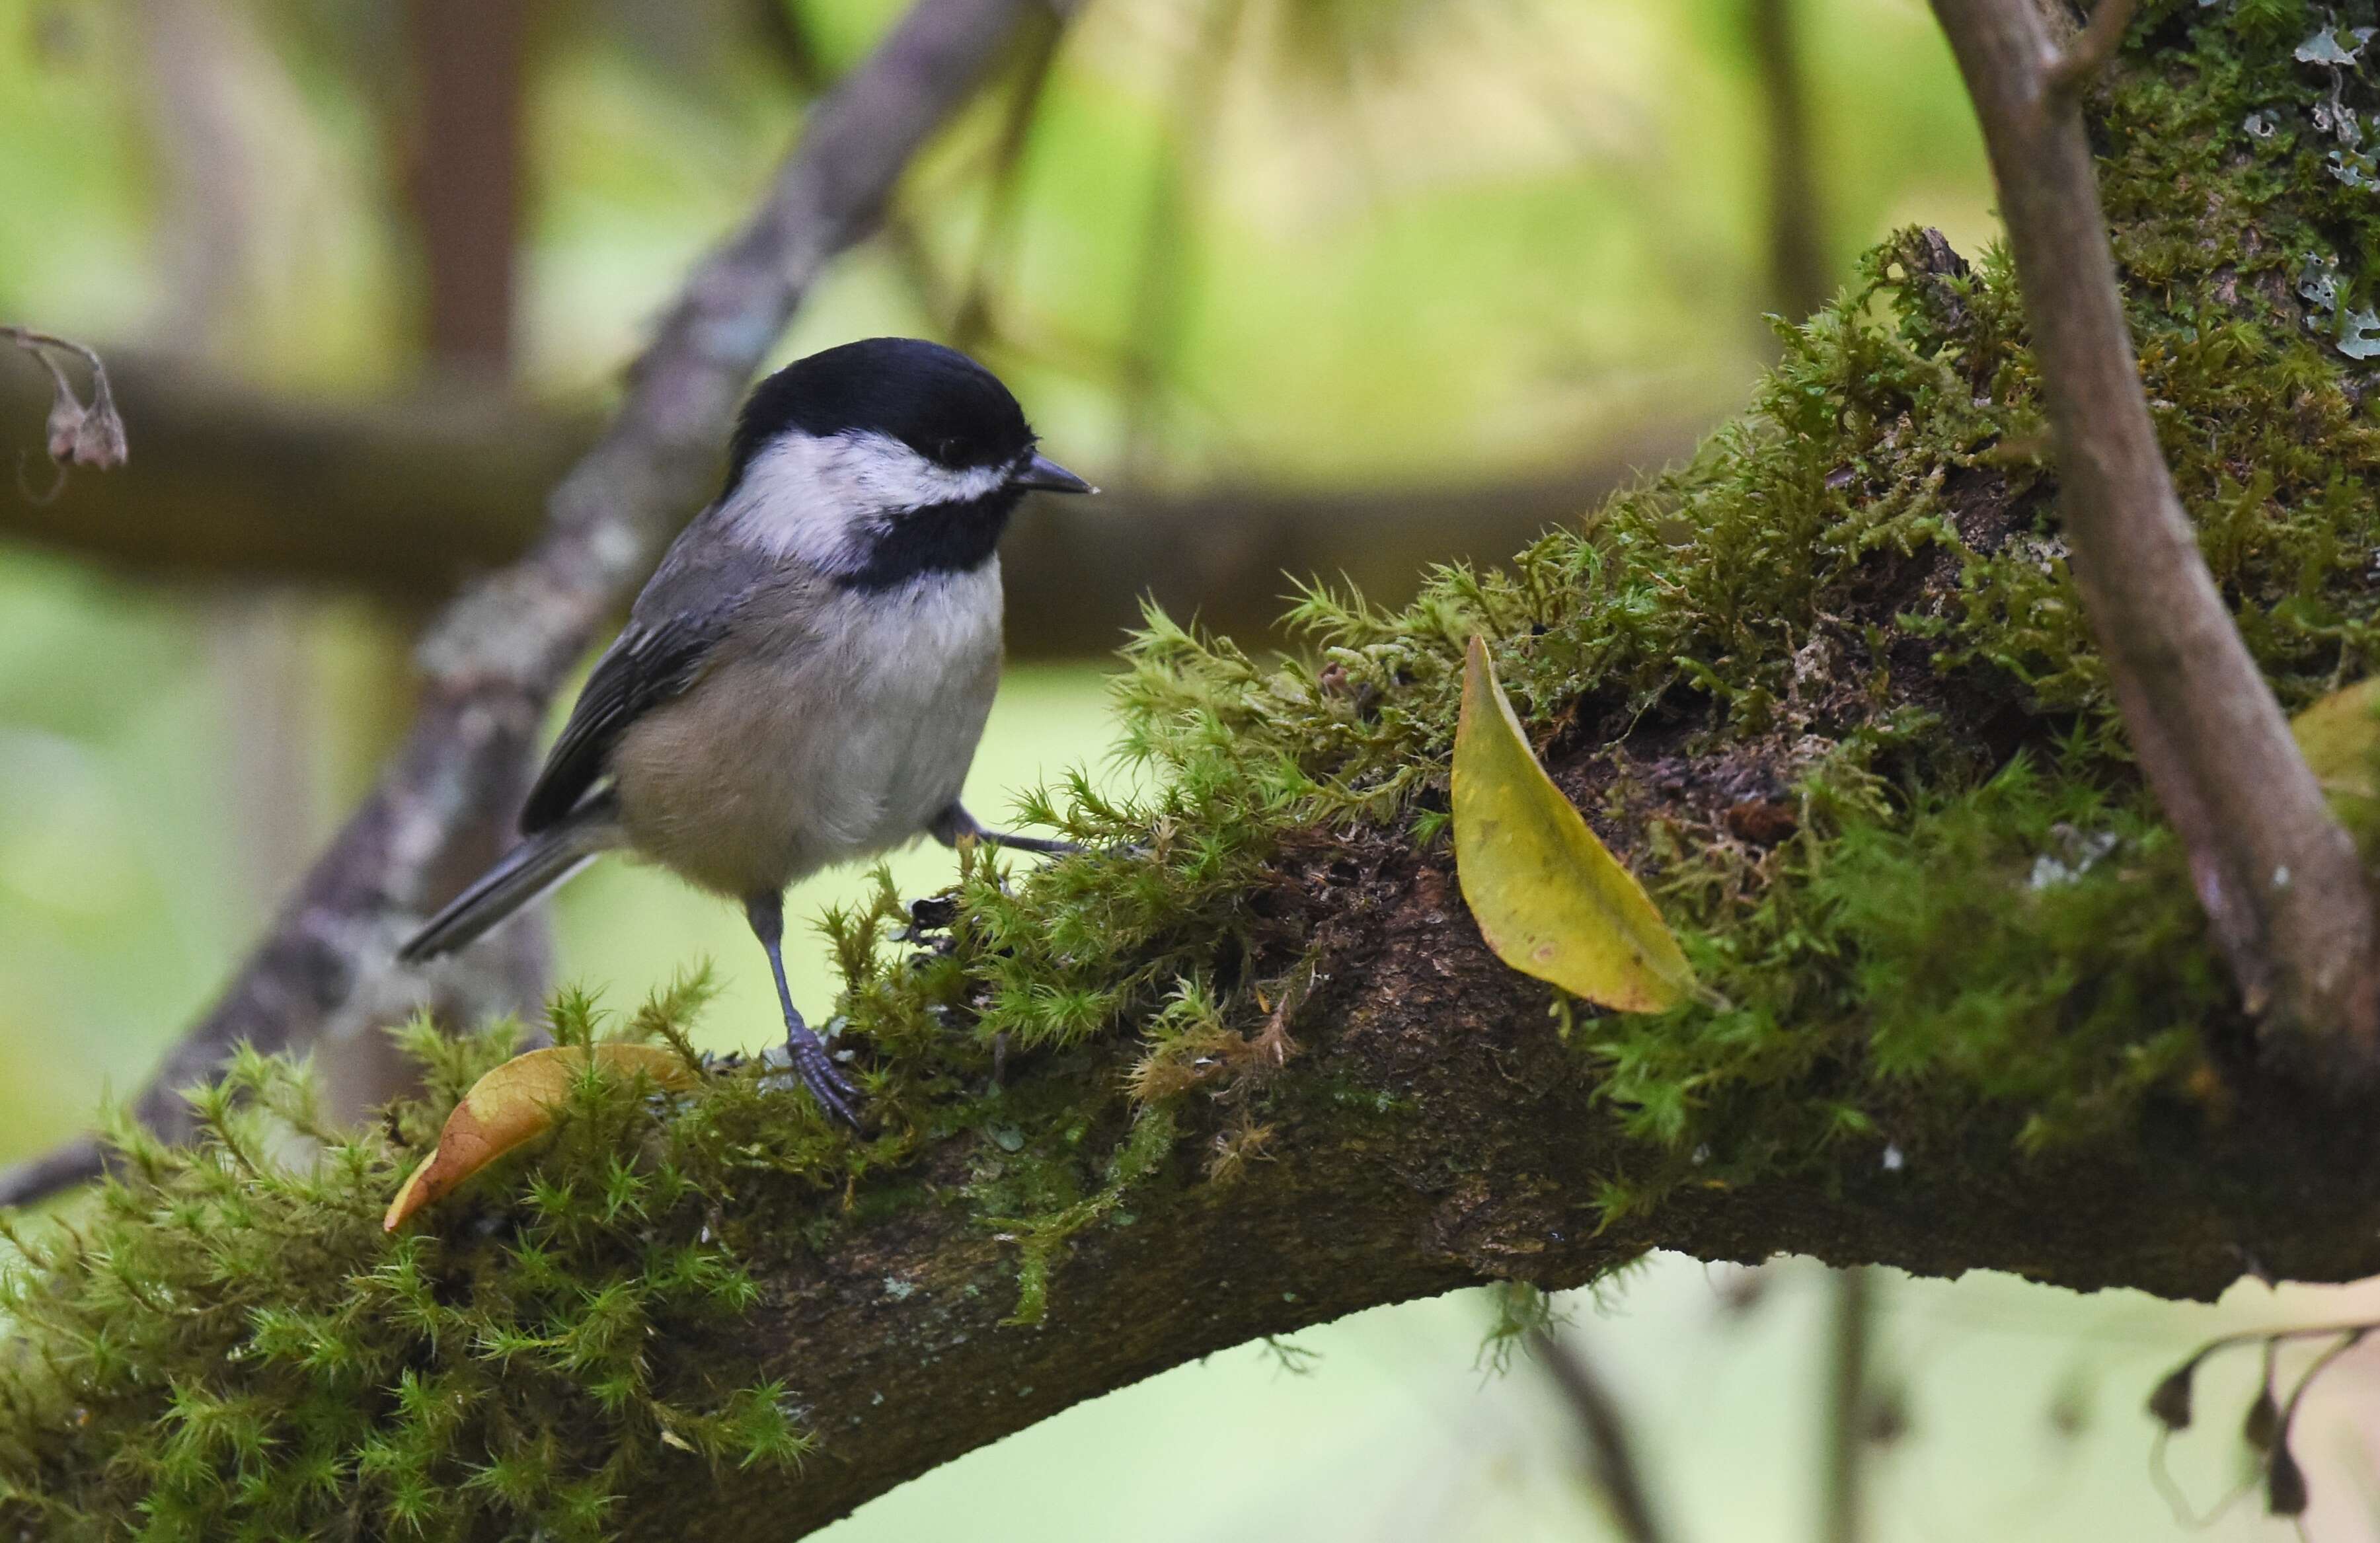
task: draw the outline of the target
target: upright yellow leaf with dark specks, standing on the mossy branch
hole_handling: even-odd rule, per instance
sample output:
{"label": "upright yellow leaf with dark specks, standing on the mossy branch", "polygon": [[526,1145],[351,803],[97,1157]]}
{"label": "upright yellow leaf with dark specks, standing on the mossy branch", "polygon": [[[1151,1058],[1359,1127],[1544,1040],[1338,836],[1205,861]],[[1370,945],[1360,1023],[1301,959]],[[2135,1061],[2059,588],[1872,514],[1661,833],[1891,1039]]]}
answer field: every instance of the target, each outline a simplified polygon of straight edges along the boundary
{"label": "upright yellow leaf with dark specks, standing on the mossy branch", "polygon": [[1454,872],[1488,948],[1521,974],[1623,1012],[1695,991],[1661,912],[1537,764],[1478,638],[1454,731]]}

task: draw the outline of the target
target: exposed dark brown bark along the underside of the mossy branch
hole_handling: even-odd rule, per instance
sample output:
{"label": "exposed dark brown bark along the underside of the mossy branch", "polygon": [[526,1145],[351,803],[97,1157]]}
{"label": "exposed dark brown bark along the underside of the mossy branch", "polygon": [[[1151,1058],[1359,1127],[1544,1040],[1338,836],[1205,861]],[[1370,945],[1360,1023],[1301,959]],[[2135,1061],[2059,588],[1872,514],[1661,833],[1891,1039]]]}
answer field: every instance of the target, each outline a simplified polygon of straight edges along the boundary
{"label": "exposed dark brown bark along the underside of the mossy branch", "polygon": [[[1904,1152],[1897,1169],[1856,1143],[1823,1174],[1687,1186],[1611,1224],[1597,1191],[1637,1155],[1557,1038],[1545,988],[1480,943],[1449,867],[1399,862],[1349,886],[1347,855],[1326,852],[1283,886],[1340,922],[1316,936],[1326,986],[1292,1026],[1304,1052],[1269,1083],[1266,1162],[1204,1179],[1204,1124],[1228,1114],[1190,1112],[1169,1176],[1133,1193],[1133,1224],[1088,1229],[1061,1252],[1038,1326],[1007,1322],[1014,1245],[964,1207],[928,1205],[821,1255],[795,1250],[771,1267],[735,1350],[788,1381],[821,1453],[790,1486],[735,1472],[716,1486],[654,1481],[621,1507],[619,1536],[802,1536],[950,1457],[1228,1345],[1480,1281],[1578,1286],[1647,1248],[2018,1269],[2185,1298],[2221,1293],[2242,1257],[2287,1279],[2380,1269],[2370,1143],[2259,1110],[2154,1152],[2118,1138],[2042,1160],[2016,1157],[1987,1119]],[[1054,1076],[1073,1088],[1059,1098],[1090,1100],[1130,1060],[1114,1045],[1028,1062],[1012,1095],[1033,1107]],[[1361,1107],[1383,1114],[1349,1119]],[[947,1143],[912,1176],[914,1193],[962,1193],[983,1152],[976,1136]]]}

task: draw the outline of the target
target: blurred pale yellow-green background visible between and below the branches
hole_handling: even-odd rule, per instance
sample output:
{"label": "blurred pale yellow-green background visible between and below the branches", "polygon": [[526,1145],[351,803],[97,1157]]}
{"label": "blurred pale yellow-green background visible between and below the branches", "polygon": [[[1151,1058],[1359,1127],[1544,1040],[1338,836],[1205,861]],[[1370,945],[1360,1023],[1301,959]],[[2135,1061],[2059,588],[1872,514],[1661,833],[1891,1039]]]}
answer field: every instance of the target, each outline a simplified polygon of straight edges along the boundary
{"label": "blurred pale yellow-green background visible between and below the branches", "polygon": [[[521,21],[495,69],[516,133],[457,148],[424,71],[438,26],[478,24],[471,5],[0,0],[0,319],[290,400],[495,388],[600,410],[804,105],[895,12],[488,7]],[[488,257],[505,305],[474,324],[433,224],[445,190],[495,174],[486,157],[516,198]],[[1626,457],[1647,426],[1685,443],[1716,424],[1766,360],[1764,312],[1799,314],[1911,221],[1966,252],[1994,229],[1923,0],[1090,0],[1045,74],[1031,52],[1002,67],[783,352],[959,341],[1061,460],[1123,488],[1492,500]],[[12,448],[36,431],[0,424]],[[0,500],[45,476],[19,457]],[[1342,541],[1366,543],[1361,519]],[[138,1088],[207,1005],[402,726],[424,614],[0,543],[0,1157]],[[1021,662],[969,800],[1004,812],[1073,767],[1116,779],[1111,738],[1097,657]],[[926,893],[950,857],[892,872]],[[864,883],[821,879],[795,912]],[[709,1041],[776,1036],[743,922],[664,876],[595,869],[555,905],[555,941],[557,974],[612,1002],[712,957]],[[809,933],[795,993],[826,1005]],[[1564,1303],[1671,1536],[1825,1536],[1837,1300],[1816,1264],[1664,1257]],[[1878,1276],[1868,1536],[2282,1536],[2254,1503],[2187,1531],[2149,1481],[2140,1400],[2194,1336],[2354,1300]],[[1304,1336],[1302,1374],[1269,1348],[1183,1367],[831,1536],[1616,1536],[1552,1383],[1526,1357],[1483,1369],[1492,1317],[1459,1293]],[[2237,1476],[2251,1374],[2218,1367],[2230,1393],[2202,1407],[2225,1429],[2173,1450],[2202,1507]],[[2325,1543],[2380,1536],[2368,1376],[2342,1362],[2299,1443]]]}

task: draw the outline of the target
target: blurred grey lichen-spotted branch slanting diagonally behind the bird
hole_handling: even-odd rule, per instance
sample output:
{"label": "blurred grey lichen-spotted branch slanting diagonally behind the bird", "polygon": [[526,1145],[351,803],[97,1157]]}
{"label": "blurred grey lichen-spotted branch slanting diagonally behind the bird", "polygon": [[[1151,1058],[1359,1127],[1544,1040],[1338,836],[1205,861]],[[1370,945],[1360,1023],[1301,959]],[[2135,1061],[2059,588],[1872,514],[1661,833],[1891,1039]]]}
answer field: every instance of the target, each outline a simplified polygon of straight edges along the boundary
{"label": "blurred grey lichen-spotted branch slanting diagonally behind the bird", "polygon": [[[869,231],[892,181],[966,100],[1026,2],[919,0],[812,112],[762,210],[688,279],[635,362],[619,417],[555,488],[545,536],[457,600],[426,638],[428,679],[412,733],[224,998],[167,1055],[136,1105],[143,1122],[183,1133],[176,1091],[240,1041],[286,1050],[362,1033],[421,993],[421,981],[395,967],[395,943],[469,879],[455,836],[512,786],[547,698],[702,502],[735,398],[812,279]],[[31,1200],[95,1167],[36,1160],[0,1174],[0,1202]]]}

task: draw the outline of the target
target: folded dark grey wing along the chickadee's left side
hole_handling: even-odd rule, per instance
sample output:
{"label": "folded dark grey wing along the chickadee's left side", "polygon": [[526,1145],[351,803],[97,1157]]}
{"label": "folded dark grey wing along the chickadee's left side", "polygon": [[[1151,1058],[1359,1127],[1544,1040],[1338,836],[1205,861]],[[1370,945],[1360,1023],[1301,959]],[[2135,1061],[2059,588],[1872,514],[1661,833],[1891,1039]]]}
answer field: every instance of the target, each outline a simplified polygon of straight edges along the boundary
{"label": "folded dark grey wing along the chickadee's left side", "polygon": [[702,679],[735,612],[769,579],[766,557],[721,543],[716,533],[700,541],[700,526],[702,519],[669,550],[638,595],[628,626],[595,662],[521,807],[524,836],[569,817],[612,769],[612,748],[628,724]]}

